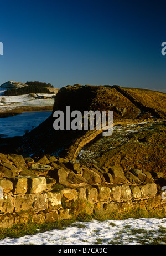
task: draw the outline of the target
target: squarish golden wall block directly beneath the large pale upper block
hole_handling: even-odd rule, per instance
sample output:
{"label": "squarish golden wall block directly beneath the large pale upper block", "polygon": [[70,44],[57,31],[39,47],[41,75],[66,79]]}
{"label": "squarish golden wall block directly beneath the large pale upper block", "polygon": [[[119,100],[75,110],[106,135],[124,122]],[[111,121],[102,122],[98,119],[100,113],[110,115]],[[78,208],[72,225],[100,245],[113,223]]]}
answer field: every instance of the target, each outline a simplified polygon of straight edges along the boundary
{"label": "squarish golden wall block directly beneath the large pale upper block", "polygon": [[33,211],[35,213],[40,212],[42,210],[46,210],[48,206],[47,194],[35,194],[34,202],[33,202]]}

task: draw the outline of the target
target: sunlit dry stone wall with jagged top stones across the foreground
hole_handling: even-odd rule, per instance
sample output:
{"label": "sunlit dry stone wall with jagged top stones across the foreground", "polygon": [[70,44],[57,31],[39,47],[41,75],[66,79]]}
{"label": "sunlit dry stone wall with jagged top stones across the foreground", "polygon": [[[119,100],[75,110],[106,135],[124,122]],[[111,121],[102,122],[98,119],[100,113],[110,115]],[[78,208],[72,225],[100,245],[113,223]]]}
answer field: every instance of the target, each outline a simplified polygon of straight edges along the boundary
{"label": "sunlit dry stone wall with jagged top stones across the foreground", "polygon": [[138,169],[125,173],[118,166],[87,168],[63,158],[0,154],[0,177],[0,228],[70,219],[74,202],[82,202],[87,214],[106,216],[132,208],[166,209],[161,185]]}

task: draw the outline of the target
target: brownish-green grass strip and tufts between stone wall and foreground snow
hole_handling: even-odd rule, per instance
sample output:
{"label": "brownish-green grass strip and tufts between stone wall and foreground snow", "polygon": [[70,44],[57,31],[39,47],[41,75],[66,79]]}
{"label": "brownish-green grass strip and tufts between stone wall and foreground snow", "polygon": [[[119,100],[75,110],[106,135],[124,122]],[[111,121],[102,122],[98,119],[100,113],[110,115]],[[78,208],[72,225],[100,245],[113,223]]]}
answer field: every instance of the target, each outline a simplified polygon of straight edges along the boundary
{"label": "brownish-green grass strip and tufts between stone wall and foreground snow", "polygon": [[[53,230],[53,229],[59,229],[62,230],[66,227],[70,227],[71,225],[76,225],[78,228],[85,228],[86,226],[84,225],[84,222],[91,221],[92,219],[100,220],[101,222],[106,220],[106,219],[111,219],[111,220],[122,220],[122,219],[128,219],[128,218],[165,218],[164,213],[158,212],[156,210],[153,210],[152,212],[147,212],[144,209],[136,209],[136,210],[131,210],[128,209],[127,212],[114,212],[112,213],[109,217],[105,215],[89,215],[87,214],[84,210],[77,215],[73,215],[72,219],[68,220],[61,220],[60,222],[53,222],[53,223],[43,223],[43,224],[35,224],[32,222],[28,222],[25,224],[20,224],[20,225],[14,225],[12,228],[5,228],[5,229],[0,229],[0,239],[4,239],[6,237],[10,238],[18,238],[18,237],[23,237],[24,235],[34,235],[37,234],[38,232],[42,233],[48,230]],[[83,223],[75,223],[76,221],[81,221]],[[110,225],[113,227],[115,226],[114,223],[110,223]],[[127,227],[126,226],[126,232],[127,232]],[[125,231],[125,230],[124,230]],[[97,230],[96,230],[97,232]],[[130,229],[130,232],[133,234],[136,233],[146,233],[146,230],[142,229]],[[162,235],[165,235],[166,229],[163,227],[160,227],[158,233],[161,235],[158,239],[155,239],[152,243],[159,243],[162,241],[163,243],[166,244],[166,238],[162,237]],[[114,240],[113,240],[114,241]],[[114,242],[110,242],[113,244]],[[103,241],[101,241],[100,238],[96,239],[96,244],[101,244]],[[117,242],[116,242],[117,244]]]}

